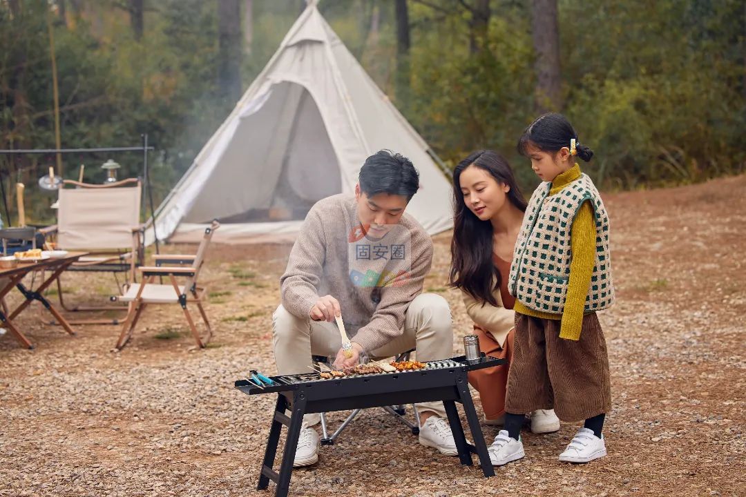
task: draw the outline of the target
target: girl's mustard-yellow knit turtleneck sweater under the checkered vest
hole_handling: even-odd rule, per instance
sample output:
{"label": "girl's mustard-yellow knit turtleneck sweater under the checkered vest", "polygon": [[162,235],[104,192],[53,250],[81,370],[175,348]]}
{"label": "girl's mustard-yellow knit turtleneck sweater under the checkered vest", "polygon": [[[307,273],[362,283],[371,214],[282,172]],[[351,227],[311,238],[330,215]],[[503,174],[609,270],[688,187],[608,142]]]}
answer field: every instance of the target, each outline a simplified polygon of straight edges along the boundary
{"label": "girl's mustard-yellow knit turtleneck sweater under the checkered vest", "polygon": [[[562,191],[565,186],[580,177],[580,165],[559,174],[552,182],[550,195]],[[572,262],[570,263],[570,279],[568,280],[567,295],[565,296],[565,311],[562,314],[534,311],[515,301],[515,312],[542,319],[562,320],[560,338],[580,340],[580,329],[583,326],[583,309],[586,306],[588,288],[595,265],[596,224],[593,208],[589,200],[583,202],[575,215],[570,229],[570,245]]]}

